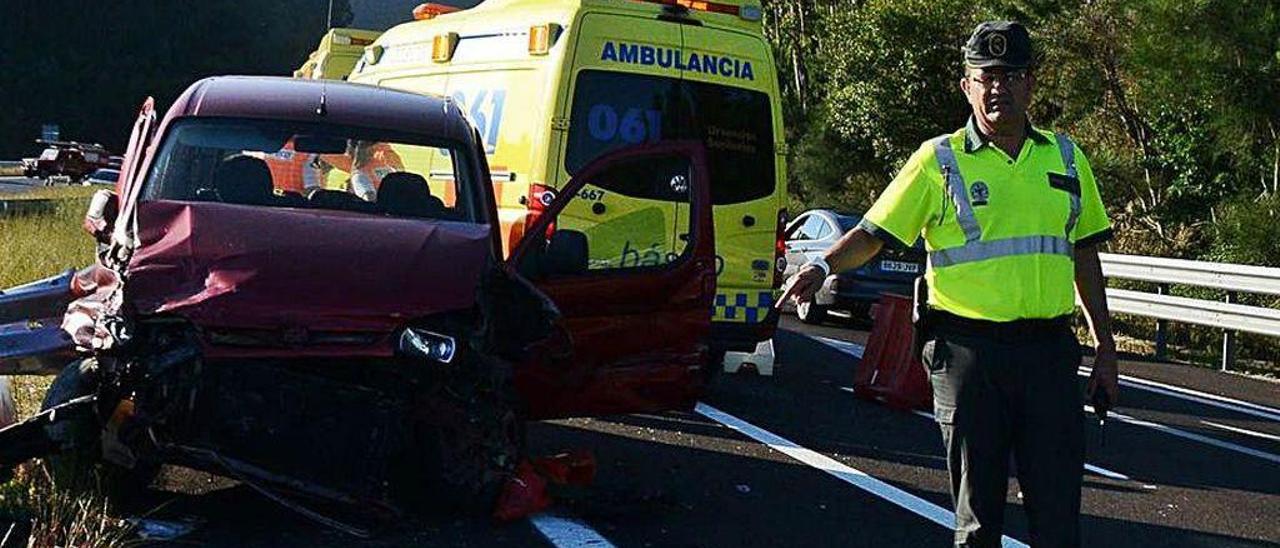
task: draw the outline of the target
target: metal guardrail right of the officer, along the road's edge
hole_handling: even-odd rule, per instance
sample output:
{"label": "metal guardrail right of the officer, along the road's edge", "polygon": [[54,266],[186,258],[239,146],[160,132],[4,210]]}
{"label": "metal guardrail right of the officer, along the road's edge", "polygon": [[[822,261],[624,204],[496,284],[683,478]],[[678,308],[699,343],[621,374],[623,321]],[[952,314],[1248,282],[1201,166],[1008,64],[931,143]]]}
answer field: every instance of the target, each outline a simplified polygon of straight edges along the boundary
{"label": "metal guardrail right of the officer, along the road's edge", "polygon": [[[1102,274],[1108,278],[1158,284],[1157,293],[1107,289],[1107,305],[1112,311],[1157,320],[1157,359],[1166,353],[1170,320],[1224,329],[1222,370],[1235,361],[1235,332],[1280,337],[1280,310],[1236,302],[1238,293],[1280,294],[1280,268],[1115,254],[1100,254],[1100,259]],[[1167,294],[1170,286],[1222,289],[1226,301],[1174,297]]]}

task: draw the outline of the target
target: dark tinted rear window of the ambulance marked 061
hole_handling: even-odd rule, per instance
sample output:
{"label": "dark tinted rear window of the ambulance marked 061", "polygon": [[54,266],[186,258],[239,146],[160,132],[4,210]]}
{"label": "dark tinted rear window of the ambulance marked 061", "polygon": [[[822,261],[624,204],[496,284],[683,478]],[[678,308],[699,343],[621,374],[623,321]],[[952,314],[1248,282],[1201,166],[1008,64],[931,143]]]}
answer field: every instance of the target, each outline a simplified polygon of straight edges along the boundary
{"label": "dark tinted rear window of the ambulance marked 061", "polygon": [[582,70],[573,90],[564,169],[643,142],[707,145],[716,205],[773,193],[773,115],[753,90],[644,74]]}

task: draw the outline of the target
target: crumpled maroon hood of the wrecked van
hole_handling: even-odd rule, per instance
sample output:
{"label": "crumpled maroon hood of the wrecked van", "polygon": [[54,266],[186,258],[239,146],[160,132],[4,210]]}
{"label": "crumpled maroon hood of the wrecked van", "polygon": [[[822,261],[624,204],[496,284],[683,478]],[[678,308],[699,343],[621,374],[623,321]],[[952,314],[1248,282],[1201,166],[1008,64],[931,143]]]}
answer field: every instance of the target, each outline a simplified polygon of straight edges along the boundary
{"label": "crumpled maroon hood of the wrecked van", "polygon": [[137,211],[128,298],[205,328],[387,333],[470,307],[490,256],[483,224],[215,202]]}

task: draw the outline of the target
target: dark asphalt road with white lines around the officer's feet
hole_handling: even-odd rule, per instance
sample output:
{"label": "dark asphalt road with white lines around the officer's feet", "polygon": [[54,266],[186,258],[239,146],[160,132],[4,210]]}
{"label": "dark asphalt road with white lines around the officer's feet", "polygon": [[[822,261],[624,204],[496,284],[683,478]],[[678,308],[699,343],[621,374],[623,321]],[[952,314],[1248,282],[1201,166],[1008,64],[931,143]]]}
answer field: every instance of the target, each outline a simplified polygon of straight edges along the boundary
{"label": "dark asphalt road with white lines around the officer's feet", "polygon": [[[357,542],[218,483],[164,494],[177,501],[160,517],[198,517],[183,540],[206,545],[948,545],[933,421],[847,392],[865,332],[785,328],[774,375],[723,375],[700,412],[530,425],[532,453],[585,448],[599,465],[590,489],[534,520],[436,519]],[[1280,384],[1166,364],[1121,371],[1128,419],[1108,421],[1105,446],[1087,428],[1084,545],[1280,543]],[[1006,535],[1025,543],[1016,493],[1011,481]]]}

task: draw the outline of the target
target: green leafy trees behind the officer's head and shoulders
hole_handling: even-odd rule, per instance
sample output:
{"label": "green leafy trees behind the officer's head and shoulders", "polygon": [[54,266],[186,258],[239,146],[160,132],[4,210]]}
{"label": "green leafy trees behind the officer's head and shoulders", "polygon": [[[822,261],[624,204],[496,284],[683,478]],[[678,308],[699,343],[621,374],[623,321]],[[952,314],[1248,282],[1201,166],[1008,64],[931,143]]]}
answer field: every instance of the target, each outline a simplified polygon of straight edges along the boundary
{"label": "green leafy trees behind the officer's head and shoulders", "polygon": [[1248,236],[1275,223],[1240,204],[1280,192],[1280,4],[772,0],[765,13],[800,204],[864,209],[922,141],[960,127],[959,49],[979,20],[1009,18],[1037,42],[1032,118],[1089,155],[1114,250],[1277,264],[1275,239]]}

